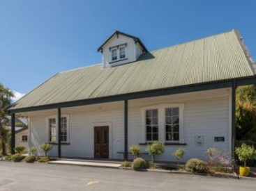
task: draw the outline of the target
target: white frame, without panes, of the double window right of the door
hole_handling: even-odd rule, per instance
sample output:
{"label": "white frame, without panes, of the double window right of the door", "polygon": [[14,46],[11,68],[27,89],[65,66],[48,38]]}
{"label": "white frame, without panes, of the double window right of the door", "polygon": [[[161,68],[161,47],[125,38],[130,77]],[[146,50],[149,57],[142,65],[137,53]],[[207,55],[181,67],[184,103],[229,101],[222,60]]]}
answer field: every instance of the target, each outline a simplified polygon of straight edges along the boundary
{"label": "white frame, without panes, of the double window right of the door", "polygon": [[[167,141],[165,139],[166,129],[165,129],[165,109],[166,108],[179,108],[179,141]],[[141,141],[146,143],[146,110],[158,109],[158,140],[161,142],[167,143],[185,143],[184,138],[184,104],[183,103],[160,103],[153,106],[146,106],[141,108],[141,116],[142,116],[142,136]]]}

